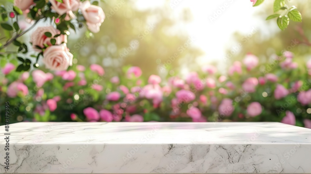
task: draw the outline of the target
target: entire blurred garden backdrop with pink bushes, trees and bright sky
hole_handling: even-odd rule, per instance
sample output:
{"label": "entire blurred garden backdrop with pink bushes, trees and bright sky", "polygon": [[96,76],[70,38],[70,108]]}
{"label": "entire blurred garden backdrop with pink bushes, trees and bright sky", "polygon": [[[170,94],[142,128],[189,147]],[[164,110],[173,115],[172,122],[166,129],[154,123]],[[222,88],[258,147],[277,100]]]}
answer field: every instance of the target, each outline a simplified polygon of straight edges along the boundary
{"label": "entire blurred garden backdrop with pink bushes, trees and bright sky", "polygon": [[[0,0],[6,8],[12,2]],[[11,122],[281,121],[311,128],[310,3],[287,2],[303,20],[285,30],[266,21],[272,3],[101,1],[100,32],[69,30],[74,59],[66,71],[39,61],[17,72],[16,57],[35,60],[33,51],[8,53],[12,46],[0,54],[1,125],[9,102]],[[19,21],[21,30],[30,26]]]}

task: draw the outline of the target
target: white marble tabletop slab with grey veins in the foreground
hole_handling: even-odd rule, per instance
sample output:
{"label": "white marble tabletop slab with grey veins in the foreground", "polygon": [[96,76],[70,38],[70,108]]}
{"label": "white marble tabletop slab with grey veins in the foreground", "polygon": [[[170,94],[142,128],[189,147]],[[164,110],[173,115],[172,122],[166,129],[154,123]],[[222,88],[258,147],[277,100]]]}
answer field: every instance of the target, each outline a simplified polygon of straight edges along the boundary
{"label": "white marble tabletop slab with grey veins in the foreground", "polygon": [[4,129],[0,173],[311,173],[311,129],[282,123],[23,122],[11,124],[10,135]]}

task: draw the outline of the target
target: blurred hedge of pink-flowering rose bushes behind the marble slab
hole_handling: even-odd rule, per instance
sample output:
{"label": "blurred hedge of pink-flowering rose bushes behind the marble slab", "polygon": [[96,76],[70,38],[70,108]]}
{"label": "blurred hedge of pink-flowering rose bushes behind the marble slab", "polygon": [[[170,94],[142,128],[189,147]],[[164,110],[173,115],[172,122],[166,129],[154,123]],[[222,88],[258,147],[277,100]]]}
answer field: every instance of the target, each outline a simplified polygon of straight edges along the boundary
{"label": "blurred hedge of pink-flowering rose bushes behind the marble slab", "polygon": [[273,57],[277,65],[246,55],[227,74],[206,66],[184,78],[143,77],[136,66],[109,76],[96,64],[29,76],[12,61],[2,67],[1,115],[10,101],[17,121],[281,121],[311,128],[311,66],[284,69],[288,58],[295,63],[293,54]]}

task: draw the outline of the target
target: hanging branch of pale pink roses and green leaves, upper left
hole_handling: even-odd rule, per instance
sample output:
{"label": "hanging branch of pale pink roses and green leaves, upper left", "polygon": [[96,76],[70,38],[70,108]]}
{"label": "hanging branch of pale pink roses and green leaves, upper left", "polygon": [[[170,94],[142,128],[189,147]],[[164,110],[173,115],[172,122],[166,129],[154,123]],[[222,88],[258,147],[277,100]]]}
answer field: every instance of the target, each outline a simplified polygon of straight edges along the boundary
{"label": "hanging branch of pale pink roses and green leaves, upper left", "polygon": [[[92,33],[100,30],[104,22],[104,11],[98,7],[97,1],[91,4],[88,0],[15,0],[12,10],[0,7],[0,25],[5,37],[0,38],[0,56],[9,57],[12,53],[28,52],[26,43],[20,37],[33,29],[38,21],[51,21],[48,26],[38,27],[31,35],[32,49],[37,52],[36,62],[29,58],[17,57],[21,64],[16,71],[28,71],[30,66],[38,67],[38,59],[42,58],[45,67],[51,70],[66,70],[72,65],[73,55],[67,48],[67,35],[69,28],[77,30],[87,26]],[[19,26],[19,17],[24,16],[31,21],[32,26],[22,30]],[[49,20],[48,20],[49,19]],[[2,40],[7,39],[5,43]],[[8,50],[9,45],[16,46]]]}

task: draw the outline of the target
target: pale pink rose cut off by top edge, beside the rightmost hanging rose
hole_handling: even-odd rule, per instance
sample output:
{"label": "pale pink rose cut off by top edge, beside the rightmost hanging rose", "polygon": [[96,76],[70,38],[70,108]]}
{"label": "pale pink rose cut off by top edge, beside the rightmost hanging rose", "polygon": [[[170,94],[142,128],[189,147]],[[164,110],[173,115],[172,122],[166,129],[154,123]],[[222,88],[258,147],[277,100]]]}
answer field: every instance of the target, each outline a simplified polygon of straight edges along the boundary
{"label": "pale pink rose cut off by top edge, beside the rightmost hanging rose", "polygon": [[52,9],[55,10],[59,15],[63,15],[70,11],[77,11],[80,5],[78,0],[63,0],[62,2],[57,2],[56,0],[49,0],[52,4]]}

